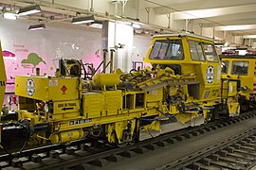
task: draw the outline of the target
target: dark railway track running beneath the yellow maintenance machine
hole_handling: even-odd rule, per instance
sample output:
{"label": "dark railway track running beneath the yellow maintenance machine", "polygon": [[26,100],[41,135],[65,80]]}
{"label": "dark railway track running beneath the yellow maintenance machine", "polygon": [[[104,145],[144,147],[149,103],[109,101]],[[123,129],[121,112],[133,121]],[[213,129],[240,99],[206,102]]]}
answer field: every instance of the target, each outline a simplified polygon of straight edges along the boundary
{"label": "dark railway track running beneath the yellow maintenance machine", "polygon": [[[128,145],[124,148],[114,147],[100,142],[89,143],[86,140],[68,145],[47,145],[36,149],[25,150],[21,154],[0,156],[1,169],[66,169],[84,168],[86,164],[104,166],[123,158],[133,158],[168,144],[175,144],[187,139],[206,134],[212,130],[242,122],[255,117],[256,111],[247,112],[242,117],[225,121],[211,122],[200,127],[181,129],[154,139]],[[167,167],[168,168],[168,167]]]}

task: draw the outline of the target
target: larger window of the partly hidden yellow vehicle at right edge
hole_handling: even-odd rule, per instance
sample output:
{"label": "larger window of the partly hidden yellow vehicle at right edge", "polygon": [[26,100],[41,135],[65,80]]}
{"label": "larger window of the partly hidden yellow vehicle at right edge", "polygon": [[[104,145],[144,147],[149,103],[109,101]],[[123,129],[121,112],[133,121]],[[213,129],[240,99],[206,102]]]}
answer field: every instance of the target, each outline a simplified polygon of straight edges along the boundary
{"label": "larger window of the partly hidden yellow vehicle at right edge", "polygon": [[232,61],[231,75],[247,75],[248,74],[248,61],[234,60]]}

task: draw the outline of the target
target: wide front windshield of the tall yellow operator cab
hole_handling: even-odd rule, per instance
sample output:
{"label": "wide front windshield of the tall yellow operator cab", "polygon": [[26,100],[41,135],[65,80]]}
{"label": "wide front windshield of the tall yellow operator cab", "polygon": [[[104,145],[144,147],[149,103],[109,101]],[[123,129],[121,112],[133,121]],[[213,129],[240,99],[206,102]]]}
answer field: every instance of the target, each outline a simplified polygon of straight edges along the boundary
{"label": "wide front windshield of the tall yellow operator cab", "polygon": [[150,59],[181,60],[184,52],[181,40],[155,41]]}

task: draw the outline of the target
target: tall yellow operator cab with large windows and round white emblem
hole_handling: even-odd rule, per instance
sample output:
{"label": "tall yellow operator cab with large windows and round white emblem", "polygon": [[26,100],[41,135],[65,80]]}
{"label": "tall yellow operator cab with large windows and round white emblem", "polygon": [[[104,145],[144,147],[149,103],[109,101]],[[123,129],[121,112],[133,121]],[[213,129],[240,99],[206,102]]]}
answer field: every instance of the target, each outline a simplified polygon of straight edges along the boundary
{"label": "tall yellow operator cab with large windows and round white emblem", "polygon": [[175,75],[196,75],[198,85],[191,89],[197,99],[216,98],[219,93],[221,64],[210,38],[191,33],[156,35],[144,61],[154,68],[170,67]]}

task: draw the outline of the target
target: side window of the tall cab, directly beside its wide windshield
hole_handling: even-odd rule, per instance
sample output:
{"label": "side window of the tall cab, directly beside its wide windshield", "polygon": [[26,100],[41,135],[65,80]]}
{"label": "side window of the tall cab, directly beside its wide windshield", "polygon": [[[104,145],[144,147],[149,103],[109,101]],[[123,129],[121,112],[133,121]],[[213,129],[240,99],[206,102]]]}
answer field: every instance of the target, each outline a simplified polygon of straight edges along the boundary
{"label": "side window of the tall cab, directly beside its wide windshield", "polygon": [[201,42],[189,41],[192,60],[205,60]]}

